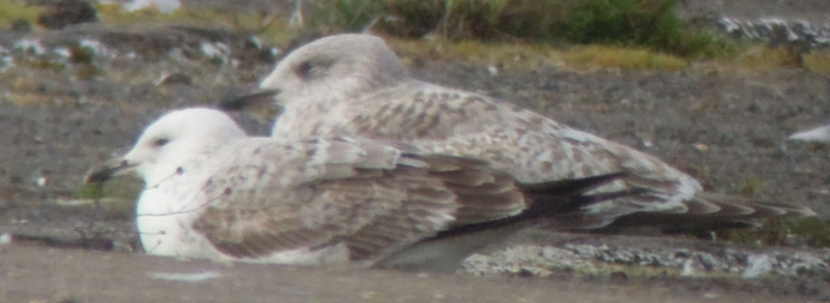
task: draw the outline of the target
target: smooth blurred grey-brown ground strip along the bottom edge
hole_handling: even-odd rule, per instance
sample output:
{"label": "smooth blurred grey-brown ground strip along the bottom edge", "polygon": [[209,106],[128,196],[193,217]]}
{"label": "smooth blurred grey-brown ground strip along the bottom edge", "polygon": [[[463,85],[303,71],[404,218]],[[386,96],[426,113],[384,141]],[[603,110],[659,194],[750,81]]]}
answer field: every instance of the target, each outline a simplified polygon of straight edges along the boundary
{"label": "smooth blurred grey-brown ground strip along the bottom edge", "polygon": [[817,302],[670,285],[217,264],[32,246],[0,254],[0,268],[4,302]]}

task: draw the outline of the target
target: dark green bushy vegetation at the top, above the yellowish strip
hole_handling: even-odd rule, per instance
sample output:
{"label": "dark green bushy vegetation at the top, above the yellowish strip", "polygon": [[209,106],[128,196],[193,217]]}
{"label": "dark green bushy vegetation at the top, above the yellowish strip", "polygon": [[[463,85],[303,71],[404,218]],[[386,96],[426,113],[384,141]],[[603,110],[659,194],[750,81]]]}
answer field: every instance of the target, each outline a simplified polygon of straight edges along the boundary
{"label": "dark green bushy vegetation at the top, above the yellowish strip", "polygon": [[687,26],[677,0],[321,0],[310,25],[324,32],[374,25],[392,36],[546,41],[648,48],[687,58],[733,52],[732,43]]}

